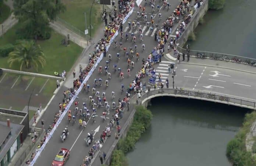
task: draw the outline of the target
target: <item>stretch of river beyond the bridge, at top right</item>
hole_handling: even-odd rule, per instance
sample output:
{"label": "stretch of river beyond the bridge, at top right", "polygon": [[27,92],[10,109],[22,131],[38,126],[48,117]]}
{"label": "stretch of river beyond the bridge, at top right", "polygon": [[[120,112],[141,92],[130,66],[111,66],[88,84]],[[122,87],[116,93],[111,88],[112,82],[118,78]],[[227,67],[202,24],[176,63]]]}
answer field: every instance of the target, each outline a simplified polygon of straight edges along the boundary
{"label": "stretch of river beyond the bridge, at top right", "polygon": [[226,0],[223,9],[209,10],[195,29],[191,49],[256,59],[256,0]]}

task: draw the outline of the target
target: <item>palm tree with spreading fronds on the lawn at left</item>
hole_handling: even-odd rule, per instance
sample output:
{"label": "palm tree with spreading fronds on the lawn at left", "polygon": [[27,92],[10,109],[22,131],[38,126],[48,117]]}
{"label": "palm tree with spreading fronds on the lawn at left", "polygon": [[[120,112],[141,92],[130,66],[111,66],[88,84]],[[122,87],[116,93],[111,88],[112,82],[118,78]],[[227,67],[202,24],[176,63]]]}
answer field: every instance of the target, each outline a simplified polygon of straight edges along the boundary
{"label": "palm tree with spreading fronds on the lawn at left", "polygon": [[25,65],[26,69],[33,67],[38,71],[38,65],[40,64],[43,67],[46,63],[45,55],[40,46],[35,45],[35,42],[32,40],[19,41],[9,56],[10,58],[7,62],[10,63],[10,67],[14,62],[18,62],[20,64],[20,70]]}

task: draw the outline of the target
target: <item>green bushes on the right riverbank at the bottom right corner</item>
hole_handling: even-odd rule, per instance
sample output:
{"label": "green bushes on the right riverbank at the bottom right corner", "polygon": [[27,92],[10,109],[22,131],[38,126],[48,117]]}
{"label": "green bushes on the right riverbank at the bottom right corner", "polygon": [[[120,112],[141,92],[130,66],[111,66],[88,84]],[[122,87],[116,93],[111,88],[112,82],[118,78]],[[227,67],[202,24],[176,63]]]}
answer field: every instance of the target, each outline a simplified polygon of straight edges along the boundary
{"label": "green bushes on the right riverbank at the bottom right corner", "polygon": [[250,127],[255,120],[256,111],[246,114],[241,130],[236,134],[235,138],[227,144],[226,155],[234,166],[256,165],[256,158],[253,157],[252,152],[246,151],[245,147],[246,134],[250,132]]}

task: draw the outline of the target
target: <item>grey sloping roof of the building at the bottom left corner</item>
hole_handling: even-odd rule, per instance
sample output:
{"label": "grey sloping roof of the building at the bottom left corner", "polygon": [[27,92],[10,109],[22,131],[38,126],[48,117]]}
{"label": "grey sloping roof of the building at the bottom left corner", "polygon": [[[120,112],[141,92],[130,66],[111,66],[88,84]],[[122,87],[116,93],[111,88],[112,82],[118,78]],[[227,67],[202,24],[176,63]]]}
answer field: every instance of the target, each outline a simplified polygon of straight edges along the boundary
{"label": "grey sloping roof of the building at the bottom left corner", "polygon": [[[8,128],[10,130],[7,130],[6,128]],[[6,132],[11,131],[11,135],[8,137],[8,139],[5,141],[5,143],[1,145],[0,161],[3,159],[4,155],[6,155],[6,153],[10,149],[10,147],[13,145],[14,141],[17,139],[17,137],[19,136],[19,133],[22,131],[23,128],[24,128],[24,125],[18,125],[18,124],[14,124],[14,123],[11,123],[10,128],[9,128],[7,126],[7,122],[0,121],[0,130],[4,129],[4,130],[6,130]],[[10,132],[8,132],[8,134],[9,133]],[[3,138],[3,136],[0,136],[0,138],[6,139],[6,137]]]}

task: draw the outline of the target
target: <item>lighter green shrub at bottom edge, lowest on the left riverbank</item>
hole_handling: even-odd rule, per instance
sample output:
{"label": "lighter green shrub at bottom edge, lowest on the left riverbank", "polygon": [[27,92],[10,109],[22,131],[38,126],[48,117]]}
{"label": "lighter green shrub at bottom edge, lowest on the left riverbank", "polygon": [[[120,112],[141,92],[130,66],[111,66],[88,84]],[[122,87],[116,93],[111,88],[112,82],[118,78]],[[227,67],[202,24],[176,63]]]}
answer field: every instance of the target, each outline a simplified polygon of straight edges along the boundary
{"label": "lighter green shrub at bottom edge, lowest on the left riverbank", "polygon": [[128,160],[121,150],[114,150],[110,166],[128,166]]}

